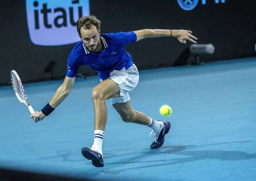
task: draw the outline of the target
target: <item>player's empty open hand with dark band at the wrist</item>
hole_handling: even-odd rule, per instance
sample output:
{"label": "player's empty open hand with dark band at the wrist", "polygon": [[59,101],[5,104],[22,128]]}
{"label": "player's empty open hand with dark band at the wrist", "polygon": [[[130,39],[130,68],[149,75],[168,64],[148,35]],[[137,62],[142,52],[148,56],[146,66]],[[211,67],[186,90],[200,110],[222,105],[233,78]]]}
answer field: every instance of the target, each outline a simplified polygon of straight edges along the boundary
{"label": "player's empty open hand with dark band at the wrist", "polygon": [[[190,30],[172,30],[172,36],[176,37],[181,43],[187,43],[186,40],[189,40],[193,43],[196,43],[193,39],[197,39],[193,36]],[[192,39],[193,38],[193,39]]]}

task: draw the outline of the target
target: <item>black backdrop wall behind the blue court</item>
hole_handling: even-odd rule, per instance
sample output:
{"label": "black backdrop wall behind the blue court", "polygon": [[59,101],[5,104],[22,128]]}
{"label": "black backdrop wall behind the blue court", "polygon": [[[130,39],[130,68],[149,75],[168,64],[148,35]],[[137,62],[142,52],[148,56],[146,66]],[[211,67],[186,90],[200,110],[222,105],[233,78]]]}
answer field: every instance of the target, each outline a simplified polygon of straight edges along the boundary
{"label": "black backdrop wall behind the blue court", "polygon": [[[67,57],[75,43],[33,44],[27,26],[26,1],[2,0],[0,3],[0,84],[10,82],[11,70],[16,70],[24,83],[48,79],[51,74],[45,72],[45,67],[51,61],[56,63],[54,77],[65,76]],[[205,5],[199,0],[194,9],[185,11],[177,0],[91,0],[90,14],[102,21],[101,33],[139,29],[192,30],[198,38],[197,43],[215,46],[214,54],[205,56],[204,61],[216,61],[255,56],[255,5],[251,0],[225,0],[217,4],[214,0],[206,0]],[[179,64],[177,60],[190,45],[189,42],[179,43],[173,37],[160,37],[141,40],[126,49],[138,69],[144,69]],[[79,72],[95,74],[87,66],[81,67]]]}

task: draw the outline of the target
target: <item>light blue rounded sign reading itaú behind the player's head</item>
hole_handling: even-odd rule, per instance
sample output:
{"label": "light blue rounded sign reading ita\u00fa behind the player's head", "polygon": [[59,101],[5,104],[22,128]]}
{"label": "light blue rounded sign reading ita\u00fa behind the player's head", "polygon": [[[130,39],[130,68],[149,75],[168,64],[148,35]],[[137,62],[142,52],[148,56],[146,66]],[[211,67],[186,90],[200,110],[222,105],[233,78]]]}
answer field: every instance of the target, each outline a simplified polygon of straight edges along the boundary
{"label": "light blue rounded sign reading ita\u00fa behind the player's head", "polygon": [[26,0],[31,41],[43,46],[78,42],[76,21],[89,10],[89,0]]}

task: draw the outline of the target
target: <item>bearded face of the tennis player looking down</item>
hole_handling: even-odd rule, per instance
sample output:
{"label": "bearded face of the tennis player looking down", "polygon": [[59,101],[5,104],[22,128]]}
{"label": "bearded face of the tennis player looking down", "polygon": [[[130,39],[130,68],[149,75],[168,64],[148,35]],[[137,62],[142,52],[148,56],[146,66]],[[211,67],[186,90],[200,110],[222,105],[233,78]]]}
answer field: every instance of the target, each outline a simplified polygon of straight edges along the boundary
{"label": "bearded face of the tennis player looking down", "polygon": [[90,29],[83,29],[80,30],[80,39],[83,41],[83,44],[87,47],[89,52],[96,52],[100,51],[99,48],[99,35],[100,32],[97,28],[92,25]]}

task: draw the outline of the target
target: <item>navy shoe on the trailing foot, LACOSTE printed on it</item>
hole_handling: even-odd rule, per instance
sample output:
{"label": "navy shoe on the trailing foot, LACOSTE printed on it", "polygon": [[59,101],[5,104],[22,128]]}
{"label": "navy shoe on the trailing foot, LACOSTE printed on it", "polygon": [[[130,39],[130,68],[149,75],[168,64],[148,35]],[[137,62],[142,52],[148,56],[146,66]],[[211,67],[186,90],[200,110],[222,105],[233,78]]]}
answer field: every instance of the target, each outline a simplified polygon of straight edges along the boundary
{"label": "navy shoe on the trailing foot, LACOSTE printed on it", "polygon": [[154,133],[154,137],[155,137],[155,141],[150,145],[151,149],[160,148],[164,144],[165,135],[169,132],[171,128],[171,123],[169,122],[163,122],[163,123],[164,123],[164,127],[160,132],[151,132],[151,133]]}

